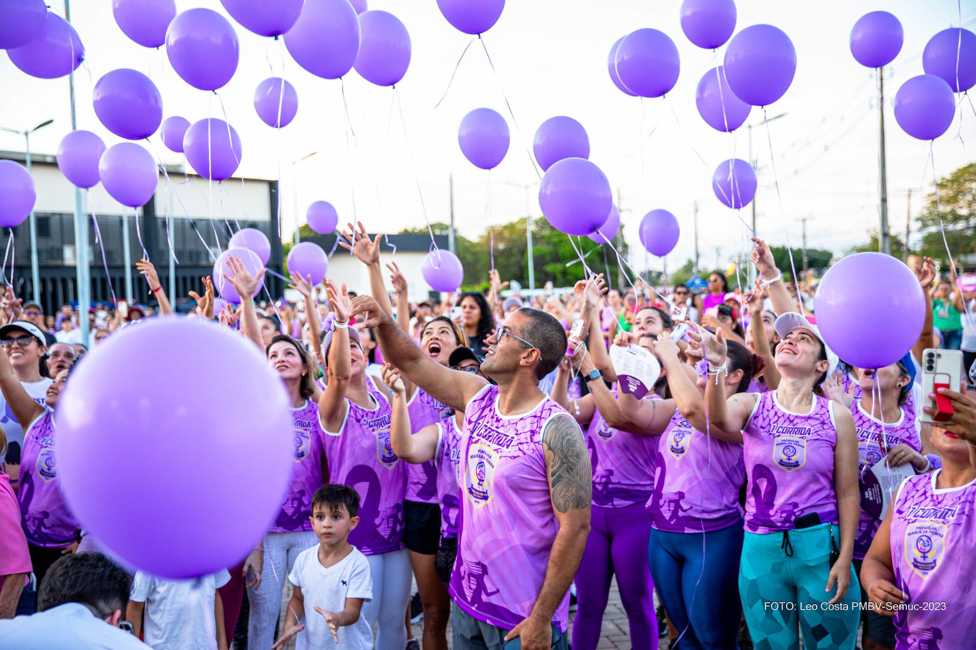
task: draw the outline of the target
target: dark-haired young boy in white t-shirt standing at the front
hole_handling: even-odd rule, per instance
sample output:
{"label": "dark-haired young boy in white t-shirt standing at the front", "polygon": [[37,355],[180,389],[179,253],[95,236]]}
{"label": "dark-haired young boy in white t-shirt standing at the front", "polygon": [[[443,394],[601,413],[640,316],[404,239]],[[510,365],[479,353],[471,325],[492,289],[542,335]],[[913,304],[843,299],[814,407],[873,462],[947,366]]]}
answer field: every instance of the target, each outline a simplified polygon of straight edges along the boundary
{"label": "dark-haired young boy in white t-shirt standing at the front", "polygon": [[[272,650],[299,634],[299,650],[371,650],[373,630],[359,615],[373,596],[369,562],[349,544],[359,523],[359,495],[346,485],[323,485],[311,498],[312,529],[318,546],[299,553],[288,580],[295,586],[285,628]],[[306,616],[305,601],[316,613]],[[305,623],[302,623],[302,621]],[[340,630],[342,628],[342,630]],[[330,633],[331,632],[331,633]]]}

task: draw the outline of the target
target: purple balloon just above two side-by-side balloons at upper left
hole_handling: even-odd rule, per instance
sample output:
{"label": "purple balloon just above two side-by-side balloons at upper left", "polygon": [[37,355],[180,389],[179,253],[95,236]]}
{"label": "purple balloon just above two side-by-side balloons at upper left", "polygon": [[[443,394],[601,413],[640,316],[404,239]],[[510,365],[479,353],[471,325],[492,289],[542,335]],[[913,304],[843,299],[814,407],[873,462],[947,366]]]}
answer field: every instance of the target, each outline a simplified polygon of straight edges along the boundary
{"label": "purple balloon just above two side-by-side balloons at upper left", "polygon": [[105,128],[126,140],[148,138],[163,120],[163,98],[139,70],[120,67],[106,72],[92,97]]}

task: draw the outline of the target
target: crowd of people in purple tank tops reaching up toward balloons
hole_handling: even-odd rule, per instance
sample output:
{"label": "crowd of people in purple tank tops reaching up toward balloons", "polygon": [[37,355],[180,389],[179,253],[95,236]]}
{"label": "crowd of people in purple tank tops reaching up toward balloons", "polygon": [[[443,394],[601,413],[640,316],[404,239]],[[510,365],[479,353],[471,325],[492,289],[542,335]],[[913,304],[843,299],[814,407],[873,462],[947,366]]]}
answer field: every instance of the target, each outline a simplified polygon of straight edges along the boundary
{"label": "crowd of people in purple tank tops reaching up toward balloons", "polygon": [[[192,581],[130,572],[85,535],[55,462],[84,315],[7,290],[0,619],[13,620],[0,620],[0,647],[444,650],[450,623],[457,650],[594,650],[615,577],[634,649],[665,634],[691,649],[971,646],[966,372],[939,388],[952,422],[921,422],[934,398],[920,388],[924,350],[961,345],[964,371],[976,355],[976,295],[955,271],[938,279],[915,260],[928,301],[918,340],[862,369],[818,330],[815,284],[785,281],[761,240],[746,290],[719,272],[698,295],[608,290],[588,272],[563,295],[503,298],[493,272],[484,294],[415,305],[396,264],[387,288],[380,236],[354,234],[344,245],[368,268],[368,295],[292,274],[297,303],[215,308],[218,278],[191,296],[186,317],[262,349],[295,440],[264,537]],[[97,306],[94,345],[175,317],[152,264],[139,270],[158,306]],[[231,258],[220,280],[254,296],[263,274]],[[899,315],[878,317],[882,336]],[[615,367],[621,347],[652,358],[646,394]],[[871,507],[872,490],[887,508]]]}

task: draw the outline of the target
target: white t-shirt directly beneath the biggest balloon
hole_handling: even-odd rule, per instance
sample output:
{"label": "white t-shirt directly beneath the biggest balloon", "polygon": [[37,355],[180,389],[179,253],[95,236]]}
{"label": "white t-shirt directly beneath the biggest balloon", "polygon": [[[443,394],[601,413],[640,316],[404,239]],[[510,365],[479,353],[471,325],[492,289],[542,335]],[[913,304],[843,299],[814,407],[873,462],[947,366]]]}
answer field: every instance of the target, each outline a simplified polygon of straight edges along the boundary
{"label": "white t-shirt directly beneath the biggest balloon", "polygon": [[210,650],[211,633],[216,643],[215,593],[230,582],[230,574],[224,569],[200,580],[197,588],[196,580],[165,580],[136,572],[130,598],[145,603],[146,645],[155,650]]}

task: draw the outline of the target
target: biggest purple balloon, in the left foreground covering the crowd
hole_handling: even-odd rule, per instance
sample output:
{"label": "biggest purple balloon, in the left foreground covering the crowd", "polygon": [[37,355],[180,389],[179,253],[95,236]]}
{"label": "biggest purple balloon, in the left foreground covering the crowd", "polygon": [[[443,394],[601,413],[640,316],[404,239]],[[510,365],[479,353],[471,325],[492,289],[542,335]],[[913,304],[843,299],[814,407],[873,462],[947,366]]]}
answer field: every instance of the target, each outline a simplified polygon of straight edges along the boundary
{"label": "biggest purple balloon, in the left foreground covering the crowd", "polygon": [[[186,373],[183,353],[224,380]],[[133,368],[151,376],[106,379]],[[174,580],[221,571],[255,548],[295,466],[291,403],[255,345],[200,318],[153,318],[111,336],[71,379],[58,405],[58,473],[102,547]],[[242,472],[255,449],[261,471]],[[140,511],[153,525],[132,525]]]}

